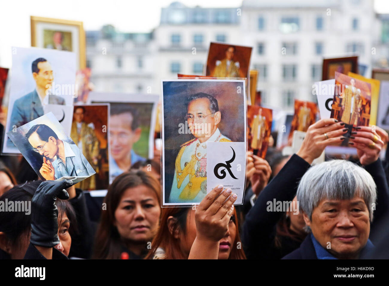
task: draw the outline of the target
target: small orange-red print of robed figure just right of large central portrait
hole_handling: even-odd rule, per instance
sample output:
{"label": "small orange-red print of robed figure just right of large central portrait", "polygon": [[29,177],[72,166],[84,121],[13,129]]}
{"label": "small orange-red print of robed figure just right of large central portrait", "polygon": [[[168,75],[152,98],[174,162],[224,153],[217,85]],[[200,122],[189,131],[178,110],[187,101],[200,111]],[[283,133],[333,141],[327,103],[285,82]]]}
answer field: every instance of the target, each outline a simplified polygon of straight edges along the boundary
{"label": "small orange-red print of robed figure just right of large central portrait", "polygon": [[265,107],[247,106],[248,149],[263,159],[265,159],[272,133],[272,113],[272,109]]}

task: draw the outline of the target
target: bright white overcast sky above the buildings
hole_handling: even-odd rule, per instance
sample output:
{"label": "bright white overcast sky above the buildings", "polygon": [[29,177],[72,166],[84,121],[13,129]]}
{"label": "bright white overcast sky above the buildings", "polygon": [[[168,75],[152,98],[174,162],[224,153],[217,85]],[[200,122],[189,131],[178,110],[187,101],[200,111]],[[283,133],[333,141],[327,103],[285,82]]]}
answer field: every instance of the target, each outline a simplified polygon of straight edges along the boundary
{"label": "bright white overcast sky above the buildings", "polygon": [[[83,21],[85,30],[99,30],[102,25],[112,24],[122,32],[150,32],[159,25],[161,8],[172,2],[174,1],[3,0],[0,4],[0,66],[11,66],[12,46],[30,47],[30,16]],[[242,0],[179,2],[189,7],[239,7],[242,4]],[[375,0],[375,10],[389,13],[389,1]]]}

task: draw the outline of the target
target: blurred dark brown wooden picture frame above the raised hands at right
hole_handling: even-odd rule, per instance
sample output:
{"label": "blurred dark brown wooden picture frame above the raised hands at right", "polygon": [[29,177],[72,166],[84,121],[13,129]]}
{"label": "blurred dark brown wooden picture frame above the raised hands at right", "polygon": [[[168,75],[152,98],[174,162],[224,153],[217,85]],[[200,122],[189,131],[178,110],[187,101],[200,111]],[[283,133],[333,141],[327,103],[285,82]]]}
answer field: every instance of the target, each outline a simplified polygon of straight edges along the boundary
{"label": "blurred dark brown wooden picture frame above the raised hands at right", "polygon": [[322,81],[335,79],[335,72],[347,74],[348,72],[358,73],[358,56],[345,58],[323,59]]}

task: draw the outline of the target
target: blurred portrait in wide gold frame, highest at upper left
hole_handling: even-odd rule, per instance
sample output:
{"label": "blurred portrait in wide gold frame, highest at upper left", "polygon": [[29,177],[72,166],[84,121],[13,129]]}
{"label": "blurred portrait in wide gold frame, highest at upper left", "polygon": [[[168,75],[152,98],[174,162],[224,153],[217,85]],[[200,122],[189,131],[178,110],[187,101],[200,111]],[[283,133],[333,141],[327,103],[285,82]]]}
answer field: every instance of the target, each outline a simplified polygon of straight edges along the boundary
{"label": "blurred portrait in wide gold frame, highest at upper left", "polygon": [[77,67],[86,67],[85,32],[80,21],[31,16],[31,46],[74,52]]}

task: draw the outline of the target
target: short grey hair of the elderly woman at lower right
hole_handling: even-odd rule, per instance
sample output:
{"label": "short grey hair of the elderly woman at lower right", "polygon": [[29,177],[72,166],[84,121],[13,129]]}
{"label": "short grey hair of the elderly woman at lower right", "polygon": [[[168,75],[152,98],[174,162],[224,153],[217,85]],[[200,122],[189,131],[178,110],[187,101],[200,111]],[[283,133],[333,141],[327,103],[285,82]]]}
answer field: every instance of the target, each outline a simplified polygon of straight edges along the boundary
{"label": "short grey hair of the elderly woman at lower right", "polygon": [[377,199],[373,177],[362,167],[346,160],[331,160],[315,165],[303,175],[297,189],[300,210],[312,220],[312,212],[323,199],[350,200],[363,198],[370,221],[373,221],[371,206]]}

